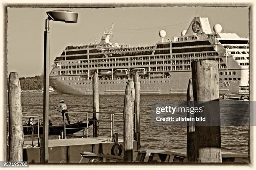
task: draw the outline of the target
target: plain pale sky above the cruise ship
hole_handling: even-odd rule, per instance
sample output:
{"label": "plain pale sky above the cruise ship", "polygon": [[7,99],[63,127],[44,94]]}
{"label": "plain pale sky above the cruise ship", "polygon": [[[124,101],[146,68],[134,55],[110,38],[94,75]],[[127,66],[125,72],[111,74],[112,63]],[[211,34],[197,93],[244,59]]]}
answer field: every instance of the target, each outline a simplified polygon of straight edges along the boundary
{"label": "plain pale sky above the cruise ship", "polygon": [[[194,17],[208,17],[211,28],[222,25],[225,32],[248,36],[248,7],[116,7],[59,8],[78,13],[77,23],[50,21],[50,65],[67,45],[100,42],[106,28],[114,23],[111,42],[152,45],[166,37],[180,36]],[[8,7],[7,67],[19,77],[41,75],[44,69],[46,12],[56,8]],[[51,71],[51,69],[50,69]]]}

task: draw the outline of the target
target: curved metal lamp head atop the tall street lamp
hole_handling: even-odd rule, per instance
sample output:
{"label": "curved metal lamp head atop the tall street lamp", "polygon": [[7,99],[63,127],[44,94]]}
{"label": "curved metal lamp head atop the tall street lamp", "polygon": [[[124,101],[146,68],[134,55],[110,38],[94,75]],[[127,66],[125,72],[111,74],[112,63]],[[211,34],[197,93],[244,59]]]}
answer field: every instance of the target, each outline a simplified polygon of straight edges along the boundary
{"label": "curved metal lamp head atop the tall street lamp", "polygon": [[77,23],[78,14],[69,10],[53,10],[46,12],[49,18],[54,21],[62,21],[65,23]]}

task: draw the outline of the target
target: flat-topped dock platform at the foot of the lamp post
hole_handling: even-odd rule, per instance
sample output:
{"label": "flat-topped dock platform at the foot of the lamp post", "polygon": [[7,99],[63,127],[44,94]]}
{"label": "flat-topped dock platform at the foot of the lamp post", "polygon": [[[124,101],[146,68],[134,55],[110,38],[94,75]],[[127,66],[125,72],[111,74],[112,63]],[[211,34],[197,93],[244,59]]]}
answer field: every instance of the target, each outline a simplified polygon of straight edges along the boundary
{"label": "flat-topped dock platform at the foot of the lamp post", "polygon": [[[109,139],[109,142],[108,142]],[[118,139],[118,143],[123,145],[123,139]],[[36,144],[36,145],[35,145]],[[49,160],[48,163],[79,163],[81,152],[101,153],[112,155],[111,149],[115,145],[111,138],[71,138],[49,140]],[[40,163],[40,148],[37,142],[25,141],[23,147],[23,161],[29,163]],[[133,150],[137,150],[137,141],[133,140]],[[134,157],[136,157],[136,153]],[[89,159],[83,158],[81,163],[88,163]]]}

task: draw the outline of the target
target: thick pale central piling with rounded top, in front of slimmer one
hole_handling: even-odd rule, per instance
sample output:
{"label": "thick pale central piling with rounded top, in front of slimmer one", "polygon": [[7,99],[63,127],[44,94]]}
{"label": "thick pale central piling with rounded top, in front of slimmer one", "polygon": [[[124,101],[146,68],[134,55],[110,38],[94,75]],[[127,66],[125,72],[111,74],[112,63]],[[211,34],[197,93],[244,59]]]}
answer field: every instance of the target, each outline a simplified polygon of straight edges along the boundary
{"label": "thick pale central piling with rounded top, in front of slimmer one", "polygon": [[123,145],[125,162],[133,160],[133,108],[135,90],[133,80],[128,80],[125,90],[125,100],[123,107]]}

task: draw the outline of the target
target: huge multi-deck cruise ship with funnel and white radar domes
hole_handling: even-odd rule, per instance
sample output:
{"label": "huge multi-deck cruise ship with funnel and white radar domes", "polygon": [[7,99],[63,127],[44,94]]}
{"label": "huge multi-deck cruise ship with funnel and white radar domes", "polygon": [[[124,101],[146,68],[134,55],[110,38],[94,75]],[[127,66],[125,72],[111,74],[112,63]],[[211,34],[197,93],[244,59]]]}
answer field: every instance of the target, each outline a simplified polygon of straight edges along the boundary
{"label": "huge multi-deck cruise ship with funnel and white radar domes", "polygon": [[110,42],[113,26],[100,43],[67,46],[56,57],[50,85],[61,94],[92,94],[92,78],[99,76],[99,94],[124,94],[128,80],[136,72],[141,77],[141,94],[181,94],[187,92],[191,62],[217,60],[221,94],[248,93],[249,39],[228,33],[220,24],[210,27],[208,18],[195,17],[181,36],[152,46],[131,47]]}

